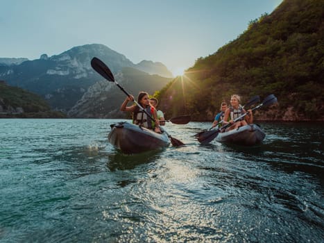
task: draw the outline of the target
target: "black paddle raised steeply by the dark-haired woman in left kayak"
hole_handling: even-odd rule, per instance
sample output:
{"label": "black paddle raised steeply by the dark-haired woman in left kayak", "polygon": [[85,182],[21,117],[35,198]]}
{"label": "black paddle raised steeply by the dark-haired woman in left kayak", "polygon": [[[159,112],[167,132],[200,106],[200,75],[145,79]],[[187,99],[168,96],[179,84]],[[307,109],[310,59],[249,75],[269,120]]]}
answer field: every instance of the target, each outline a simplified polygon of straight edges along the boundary
{"label": "black paddle raised steeply by the dark-haired woman in left kayak", "polygon": [[[115,83],[119,87],[119,89],[127,95],[127,97],[130,97],[130,94],[128,94],[128,92],[126,90],[124,90],[123,87],[121,87],[121,85],[119,85],[119,83],[117,83],[117,81],[114,80],[114,75],[110,71],[109,67],[107,65],[105,65],[105,63],[102,60],[100,60],[99,58],[92,58],[91,66],[98,74],[103,76],[103,78],[107,79],[110,82]],[[139,105],[139,103],[137,101],[134,100],[134,102],[136,103],[136,105],[139,107],[140,110],[142,110],[143,112],[146,113],[146,115],[148,117],[150,117],[153,121],[155,120],[155,119],[153,119],[153,117],[150,114],[148,114],[148,112],[146,110],[144,110],[144,108],[142,108],[141,105]],[[177,140],[176,138],[171,137],[171,135],[169,135],[169,133],[167,133],[167,131],[165,131],[161,126],[160,126],[160,129],[161,129],[161,131],[163,131],[164,133],[166,133],[168,135],[169,139],[171,140],[171,144],[173,146],[185,145],[180,140]]]}

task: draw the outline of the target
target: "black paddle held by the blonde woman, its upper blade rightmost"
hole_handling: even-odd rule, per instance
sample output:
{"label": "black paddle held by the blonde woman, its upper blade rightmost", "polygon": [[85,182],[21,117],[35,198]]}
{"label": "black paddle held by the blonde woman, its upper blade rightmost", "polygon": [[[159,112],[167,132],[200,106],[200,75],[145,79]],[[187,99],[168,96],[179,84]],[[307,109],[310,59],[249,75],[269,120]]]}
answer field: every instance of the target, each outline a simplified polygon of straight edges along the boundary
{"label": "black paddle held by the blonde woman, its upper blade rightmost", "polygon": [[[253,108],[252,111],[259,109],[262,106],[270,106],[276,102],[277,102],[277,98],[274,96],[274,94],[270,94],[270,95],[268,95],[268,97],[266,97],[264,99],[264,101],[262,101],[262,103],[260,103],[258,106],[255,106],[255,108]],[[240,117],[237,117],[237,119],[234,120],[234,123],[239,121],[241,118],[245,117],[246,115],[248,115],[248,112],[246,112],[244,115],[241,115]],[[226,124],[225,126],[222,126],[221,128],[218,128],[216,130],[206,131],[205,133],[201,133],[197,137],[197,139],[201,144],[208,144],[209,142],[214,140],[214,138],[217,137],[217,135],[219,135],[219,132],[222,129],[228,128],[229,126],[232,126],[232,124],[229,123],[229,124]]]}

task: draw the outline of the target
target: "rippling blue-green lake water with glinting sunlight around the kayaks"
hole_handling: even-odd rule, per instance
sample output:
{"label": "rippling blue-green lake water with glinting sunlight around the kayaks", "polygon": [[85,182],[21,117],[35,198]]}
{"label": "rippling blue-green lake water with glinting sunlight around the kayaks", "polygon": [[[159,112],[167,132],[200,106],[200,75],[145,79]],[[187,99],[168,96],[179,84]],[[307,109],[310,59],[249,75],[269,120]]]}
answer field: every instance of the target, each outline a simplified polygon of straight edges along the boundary
{"label": "rippling blue-green lake water with glinting sunlight around the kayaks", "polygon": [[0,119],[0,242],[323,242],[323,124],[261,124],[254,148],[126,156],[110,119]]}

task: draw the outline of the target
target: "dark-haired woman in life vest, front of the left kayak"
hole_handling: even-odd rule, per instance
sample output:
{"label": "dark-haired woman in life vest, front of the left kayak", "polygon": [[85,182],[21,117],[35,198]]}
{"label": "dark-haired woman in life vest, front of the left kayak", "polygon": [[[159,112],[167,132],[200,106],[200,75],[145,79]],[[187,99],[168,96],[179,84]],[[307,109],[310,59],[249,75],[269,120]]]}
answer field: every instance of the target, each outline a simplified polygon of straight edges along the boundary
{"label": "dark-haired woman in life vest, front of the left kayak", "polygon": [[148,93],[147,92],[139,92],[138,97],[137,97],[137,103],[146,110],[146,112],[151,115],[151,117],[154,118],[154,121],[146,115],[146,113],[139,108],[139,106],[133,105],[133,106],[127,106],[128,101],[133,101],[134,97],[133,95],[130,95],[123,101],[121,104],[121,111],[130,111],[133,112],[133,123],[137,124],[139,126],[144,126],[145,128],[152,129],[155,131],[155,133],[161,133],[160,130],[160,121],[157,118],[157,112],[156,109],[151,106],[149,98],[148,98]]}

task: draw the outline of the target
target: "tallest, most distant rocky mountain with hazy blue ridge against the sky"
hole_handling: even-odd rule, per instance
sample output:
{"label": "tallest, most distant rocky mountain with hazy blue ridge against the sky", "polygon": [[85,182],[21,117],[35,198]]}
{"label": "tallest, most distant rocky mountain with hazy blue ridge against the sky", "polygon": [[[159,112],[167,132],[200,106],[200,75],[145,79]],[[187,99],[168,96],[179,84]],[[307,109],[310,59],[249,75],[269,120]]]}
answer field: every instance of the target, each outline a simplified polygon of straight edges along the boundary
{"label": "tallest, most distant rocky mountain with hazy blue ridge against the sky", "polygon": [[26,60],[17,65],[0,65],[0,78],[9,85],[39,94],[52,108],[68,112],[90,86],[101,80],[90,66],[94,56],[103,60],[114,74],[121,72],[123,67],[145,69],[149,73],[158,70],[160,75],[164,67],[165,75],[170,74],[159,62],[151,62],[151,66],[135,65],[126,56],[103,44],[86,44],[51,57],[43,54],[40,59]]}

